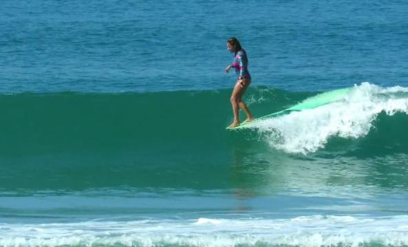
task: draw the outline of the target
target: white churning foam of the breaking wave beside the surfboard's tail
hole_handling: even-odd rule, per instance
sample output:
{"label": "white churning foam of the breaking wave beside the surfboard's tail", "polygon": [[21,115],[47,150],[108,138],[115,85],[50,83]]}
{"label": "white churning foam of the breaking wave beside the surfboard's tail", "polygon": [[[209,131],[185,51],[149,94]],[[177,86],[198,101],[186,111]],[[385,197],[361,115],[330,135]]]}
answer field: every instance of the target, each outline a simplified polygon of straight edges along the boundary
{"label": "white churning foam of the breaking wave beside the surfboard's tail", "polygon": [[330,137],[365,137],[382,112],[408,113],[408,88],[363,82],[339,101],[259,121],[254,128],[273,148],[307,154],[324,148]]}

